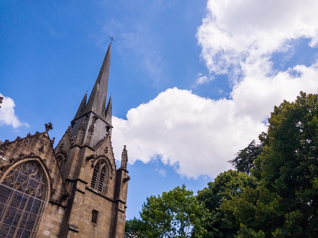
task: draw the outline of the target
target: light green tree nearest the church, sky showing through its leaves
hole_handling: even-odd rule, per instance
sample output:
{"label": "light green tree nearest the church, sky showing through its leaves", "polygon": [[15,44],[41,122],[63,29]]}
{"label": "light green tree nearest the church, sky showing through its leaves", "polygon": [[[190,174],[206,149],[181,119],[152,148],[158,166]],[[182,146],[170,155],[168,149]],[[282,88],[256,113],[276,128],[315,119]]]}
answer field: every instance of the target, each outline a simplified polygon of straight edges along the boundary
{"label": "light green tree nearest the church, sky showing through its leaves", "polygon": [[149,238],[202,237],[206,233],[202,224],[207,215],[204,205],[185,185],[162,196],[148,197],[140,213]]}

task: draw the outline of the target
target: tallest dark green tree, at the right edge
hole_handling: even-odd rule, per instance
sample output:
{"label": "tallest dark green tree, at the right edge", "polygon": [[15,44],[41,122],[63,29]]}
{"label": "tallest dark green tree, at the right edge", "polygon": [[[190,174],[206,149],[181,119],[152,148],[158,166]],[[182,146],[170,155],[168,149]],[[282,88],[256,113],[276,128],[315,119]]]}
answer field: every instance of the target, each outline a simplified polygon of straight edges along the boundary
{"label": "tallest dark green tree, at the right edge", "polygon": [[295,102],[274,108],[268,132],[260,135],[265,147],[256,164],[264,187],[282,198],[285,222],[278,230],[285,235],[318,236],[317,118],[318,95],[300,92]]}

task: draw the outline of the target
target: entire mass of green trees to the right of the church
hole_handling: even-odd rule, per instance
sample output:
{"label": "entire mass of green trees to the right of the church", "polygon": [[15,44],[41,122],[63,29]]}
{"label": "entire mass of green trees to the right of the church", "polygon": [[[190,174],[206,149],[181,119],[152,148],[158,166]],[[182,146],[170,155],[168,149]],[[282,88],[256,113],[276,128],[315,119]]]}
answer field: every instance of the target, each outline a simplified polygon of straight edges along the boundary
{"label": "entire mass of green trees to the right of the church", "polygon": [[318,237],[318,95],[283,101],[268,122],[196,197],[182,186],[147,198],[147,237]]}

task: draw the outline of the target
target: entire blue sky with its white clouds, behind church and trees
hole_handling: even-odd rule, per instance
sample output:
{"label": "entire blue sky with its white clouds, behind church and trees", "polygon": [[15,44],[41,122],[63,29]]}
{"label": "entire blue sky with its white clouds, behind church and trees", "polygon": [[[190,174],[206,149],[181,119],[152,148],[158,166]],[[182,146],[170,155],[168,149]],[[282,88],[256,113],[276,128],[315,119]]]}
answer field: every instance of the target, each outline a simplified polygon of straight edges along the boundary
{"label": "entire blue sky with its white clouds, behind church and trees", "polygon": [[0,3],[0,140],[60,140],[113,36],[116,160],[129,155],[127,218],[150,195],[194,192],[267,129],[283,99],[318,93],[316,1]]}

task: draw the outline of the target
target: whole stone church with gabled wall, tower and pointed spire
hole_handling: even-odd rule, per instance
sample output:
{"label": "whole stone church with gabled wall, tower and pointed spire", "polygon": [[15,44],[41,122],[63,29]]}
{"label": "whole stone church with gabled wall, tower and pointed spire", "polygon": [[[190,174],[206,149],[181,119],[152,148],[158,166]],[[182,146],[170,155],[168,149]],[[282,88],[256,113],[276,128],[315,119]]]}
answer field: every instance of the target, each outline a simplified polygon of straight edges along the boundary
{"label": "whole stone church with gabled wall, tower and pointed spire", "polygon": [[51,123],[44,132],[0,142],[0,237],[124,236],[130,177],[125,146],[116,168],[111,144],[111,47],[55,149]]}

